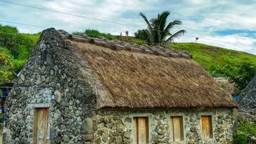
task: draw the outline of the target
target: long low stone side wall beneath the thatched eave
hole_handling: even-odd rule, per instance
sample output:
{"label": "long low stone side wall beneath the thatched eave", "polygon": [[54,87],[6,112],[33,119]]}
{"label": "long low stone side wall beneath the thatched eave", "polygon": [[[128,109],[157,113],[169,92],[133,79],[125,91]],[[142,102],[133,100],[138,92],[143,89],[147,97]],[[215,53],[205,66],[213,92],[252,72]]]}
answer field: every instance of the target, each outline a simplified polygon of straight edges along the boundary
{"label": "long low stone side wall beneath the thatched eave", "polygon": [[[213,138],[201,138],[200,115],[212,115]],[[84,140],[87,144],[133,143],[133,117],[145,116],[148,117],[150,143],[172,143],[169,130],[171,116],[183,117],[184,141],[181,143],[219,144],[232,142],[232,110],[100,110],[97,115],[83,120],[83,128],[87,131]]]}

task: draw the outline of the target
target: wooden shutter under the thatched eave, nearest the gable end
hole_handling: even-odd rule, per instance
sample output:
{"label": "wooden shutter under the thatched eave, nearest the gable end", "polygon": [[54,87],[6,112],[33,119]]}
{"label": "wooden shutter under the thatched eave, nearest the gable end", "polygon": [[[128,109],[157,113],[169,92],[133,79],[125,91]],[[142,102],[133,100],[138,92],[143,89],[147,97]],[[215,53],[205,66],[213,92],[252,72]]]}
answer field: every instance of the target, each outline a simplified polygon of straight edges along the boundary
{"label": "wooden shutter under the thatched eave, nearest the gable end", "polygon": [[133,117],[133,143],[149,143],[148,117]]}

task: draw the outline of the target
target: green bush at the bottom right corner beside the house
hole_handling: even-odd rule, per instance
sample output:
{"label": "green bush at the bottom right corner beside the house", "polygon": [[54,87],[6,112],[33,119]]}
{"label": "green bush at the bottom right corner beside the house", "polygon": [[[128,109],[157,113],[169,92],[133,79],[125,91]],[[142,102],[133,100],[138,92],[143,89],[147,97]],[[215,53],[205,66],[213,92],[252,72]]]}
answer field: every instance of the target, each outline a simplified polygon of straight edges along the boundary
{"label": "green bush at the bottom right corner beside the house", "polygon": [[234,144],[248,144],[247,138],[249,135],[256,136],[256,125],[244,122],[234,133]]}

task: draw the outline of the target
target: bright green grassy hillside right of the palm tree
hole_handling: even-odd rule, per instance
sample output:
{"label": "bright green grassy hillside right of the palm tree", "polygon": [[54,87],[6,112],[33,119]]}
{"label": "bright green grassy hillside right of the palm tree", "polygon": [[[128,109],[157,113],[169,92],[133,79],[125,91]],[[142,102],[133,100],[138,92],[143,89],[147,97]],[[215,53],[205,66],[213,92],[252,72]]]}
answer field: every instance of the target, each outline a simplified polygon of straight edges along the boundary
{"label": "bright green grassy hillside right of the palm tree", "polygon": [[234,65],[240,62],[252,62],[256,65],[256,56],[246,52],[213,47],[198,43],[173,43],[168,47],[186,50],[193,55],[193,59],[210,72],[214,67],[224,64]]}

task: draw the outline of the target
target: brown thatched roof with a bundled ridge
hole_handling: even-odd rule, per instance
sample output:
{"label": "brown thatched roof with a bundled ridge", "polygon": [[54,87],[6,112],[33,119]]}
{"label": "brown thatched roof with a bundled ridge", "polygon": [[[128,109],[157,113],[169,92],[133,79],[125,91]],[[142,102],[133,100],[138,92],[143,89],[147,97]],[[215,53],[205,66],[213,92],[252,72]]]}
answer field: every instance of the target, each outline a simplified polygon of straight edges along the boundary
{"label": "brown thatched roof with a bundled ridge", "polygon": [[189,54],[87,36],[62,37],[70,37],[66,43],[95,87],[98,108],[236,107]]}

